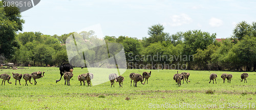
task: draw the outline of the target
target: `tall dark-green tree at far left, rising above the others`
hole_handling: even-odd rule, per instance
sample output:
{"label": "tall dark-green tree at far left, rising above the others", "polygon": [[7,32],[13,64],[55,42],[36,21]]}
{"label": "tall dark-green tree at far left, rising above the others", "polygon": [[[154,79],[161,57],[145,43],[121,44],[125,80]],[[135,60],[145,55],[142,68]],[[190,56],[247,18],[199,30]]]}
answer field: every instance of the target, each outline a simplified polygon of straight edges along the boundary
{"label": "tall dark-green tree at far left, rising above the others", "polygon": [[17,7],[3,7],[2,2],[0,2],[0,54],[8,59],[13,57],[15,47],[19,48],[15,35],[17,31],[22,31],[24,20],[20,18]]}

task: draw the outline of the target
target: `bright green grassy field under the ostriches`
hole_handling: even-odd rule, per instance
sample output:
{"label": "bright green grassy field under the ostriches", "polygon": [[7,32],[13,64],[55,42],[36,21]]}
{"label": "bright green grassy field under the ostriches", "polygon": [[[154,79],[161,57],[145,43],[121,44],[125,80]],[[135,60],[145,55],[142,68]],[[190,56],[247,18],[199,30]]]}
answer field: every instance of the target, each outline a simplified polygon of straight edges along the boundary
{"label": "bright green grassy field under the ostriches", "polygon": [[[12,72],[24,74],[34,71],[46,72],[44,77],[37,79],[37,85],[24,86],[25,80],[22,79],[22,85],[15,86],[15,79],[12,77],[12,84],[0,86],[0,109],[256,108],[256,72],[247,72],[248,83],[244,83],[240,81],[243,72],[180,70],[180,73],[190,73],[190,82],[184,82],[178,87],[173,80],[177,70],[152,70],[148,84],[138,83],[137,88],[130,87],[129,74],[142,74],[143,71],[150,70],[126,70],[122,74],[123,88],[119,88],[118,83],[115,83],[115,88],[111,88],[110,81],[92,87],[80,86],[77,76],[87,72],[84,68],[74,68],[71,86],[64,85],[63,78],[56,84],[55,80],[60,77],[59,68],[3,69],[0,74],[12,76]],[[217,84],[208,83],[211,73],[218,75]],[[227,80],[223,84],[220,77],[223,73],[233,75],[231,84]],[[92,85],[94,80],[96,79],[92,79]],[[31,82],[34,84],[33,79]],[[213,94],[207,94],[206,91]]]}

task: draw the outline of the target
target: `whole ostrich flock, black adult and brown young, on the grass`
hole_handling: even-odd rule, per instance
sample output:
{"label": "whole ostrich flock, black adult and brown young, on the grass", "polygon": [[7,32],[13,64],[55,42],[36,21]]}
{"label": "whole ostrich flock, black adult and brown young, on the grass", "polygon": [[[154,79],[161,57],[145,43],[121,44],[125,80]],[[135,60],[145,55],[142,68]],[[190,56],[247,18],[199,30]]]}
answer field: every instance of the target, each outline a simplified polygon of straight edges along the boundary
{"label": "whole ostrich flock, black adult and brown young, on the grass", "polygon": [[[56,83],[58,81],[60,81],[61,77],[63,76],[63,78],[65,79],[65,85],[67,83],[67,85],[70,86],[70,79],[73,77],[73,73],[72,73],[73,72],[73,66],[70,65],[70,64],[62,64],[59,67],[59,70],[60,70],[60,79],[57,79]],[[12,75],[13,75],[13,78],[15,79],[15,85],[16,85],[17,80],[19,81],[19,85],[21,85],[20,84],[20,79],[22,79],[22,76],[23,76],[23,78],[26,81],[25,86],[26,85],[28,86],[28,84],[27,84],[28,80],[29,80],[29,83],[32,84],[31,83],[31,78],[33,78],[34,81],[35,81],[34,84],[36,85],[37,84],[36,79],[43,77],[44,73],[45,72],[38,71],[38,72],[33,72],[31,74],[26,73],[26,74],[23,74],[23,75],[19,74],[19,73],[12,73]],[[176,82],[175,84],[176,85],[178,84],[178,86],[181,86],[181,80],[183,80],[183,84],[184,84],[184,80],[187,83],[190,82],[188,80],[189,75],[190,74],[187,73],[187,72],[182,72],[181,74],[179,74],[178,71],[177,71],[177,74],[174,74],[174,77],[173,77],[173,79]],[[140,81],[141,84],[144,85],[145,82],[147,83],[148,78],[150,78],[150,76],[151,76],[151,71],[150,72],[143,72],[142,75],[138,74],[138,73],[131,73],[129,75],[129,77],[131,78],[131,87],[132,87],[132,82],[133,82],[133,86],[137,87],[137,82],[138,81]],[[227,78],[227,81],[229,83],[231,83],[231,78],[232,77],[233,77],[232,74],[223,73],[221,75],[221,78],[223,79],[223,83],[225,82],[226,78]],[[241,74],[241,79],[242,79],[241,81],[244,80],[244,82],[246,81],[246,83],[247,83],[247,80],[246,80],[247,77],[248,77],[248,73]],[[4,85],[5,85],[6,80],[8,81],[9,84],[12,83],[12,82],[9,82],[11,76],[6,74],[6,73],[1,74],[0,78],[3,79],[2,85],[3,85],[3,82],[4,82]],[[93,73],[80,74],[80,75],[78,75],[77,78],[80,81],[80,85],[85,86],[86,85],[85,81],[87,81],[87,84],[88,84],[87,86],[91,86],[91,79],[93,79]],[[144,81],[144,78],[145,78],[145,81]],[[215,79],[215,82],[216,82],[217,74],[211,73],[209,78],[210,78],[209,84],[210,84],[211,80],[213,81],[213,84],[214,84],[214,79]],[[109,80],[111,82],[111,87],[112,87],[112,85],[113,85],[113,87],[115,87],[115,81],[119,82],[119,87],[123,87],[123,80],[124,80],[123,76],[118,76],[116,73],[112,73],[112,74],[109,75]],[[217,82],[216,82],[216,84],[217,84]]]}

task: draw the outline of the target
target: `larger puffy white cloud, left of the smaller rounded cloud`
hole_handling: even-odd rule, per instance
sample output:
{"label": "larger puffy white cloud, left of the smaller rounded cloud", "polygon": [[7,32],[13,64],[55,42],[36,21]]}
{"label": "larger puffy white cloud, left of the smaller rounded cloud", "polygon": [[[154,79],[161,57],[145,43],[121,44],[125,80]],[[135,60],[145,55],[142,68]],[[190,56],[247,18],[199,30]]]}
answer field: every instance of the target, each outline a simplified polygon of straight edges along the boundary
{"label": "larger puffy white cloud, left of the smaller rounded cloud", "polygon": [[180,15],[170,16],[170,21],[165,24],[170,26],[180,26],[183,24],[189,24],[190,22],[192,22],[192,19],[188,15],[182,13]]}

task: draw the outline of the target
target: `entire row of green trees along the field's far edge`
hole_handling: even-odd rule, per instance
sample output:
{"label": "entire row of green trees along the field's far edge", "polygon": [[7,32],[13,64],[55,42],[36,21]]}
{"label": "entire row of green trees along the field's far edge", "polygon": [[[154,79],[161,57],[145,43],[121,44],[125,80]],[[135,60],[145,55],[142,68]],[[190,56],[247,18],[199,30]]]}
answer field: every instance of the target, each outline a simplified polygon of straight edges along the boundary
{"label": "entire row of green trees along the field's far edge", "polygon": [[[16,7],[3,7],[0,2],[0,63],[13,62],[17,66],[60,66],[68,63],[66,39],[79,35],[79,42],[87,42],[93,31],[58,35],[24,32]],[[105,36],[106,43],[123,45],[127,68],[150,69],[186,68],[191,70],[255,71],[256,23],[239,22],[231,37],[216,40],[217,34],[189,30],[169,34],[164,26],[148,28],[148,37],[137,39],[127,36]],[[176,68],[172,65],[175,64]],[[153,66],[154,65],[154,66]]]}

